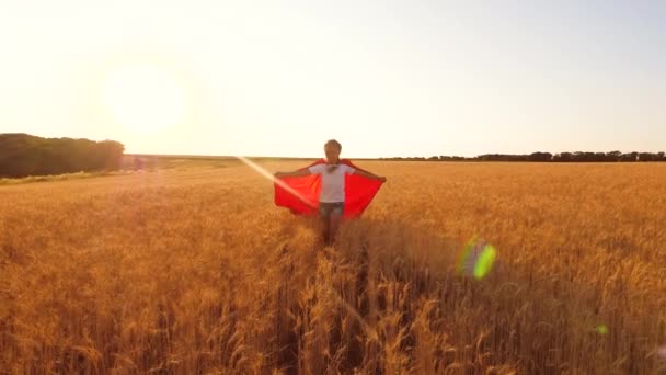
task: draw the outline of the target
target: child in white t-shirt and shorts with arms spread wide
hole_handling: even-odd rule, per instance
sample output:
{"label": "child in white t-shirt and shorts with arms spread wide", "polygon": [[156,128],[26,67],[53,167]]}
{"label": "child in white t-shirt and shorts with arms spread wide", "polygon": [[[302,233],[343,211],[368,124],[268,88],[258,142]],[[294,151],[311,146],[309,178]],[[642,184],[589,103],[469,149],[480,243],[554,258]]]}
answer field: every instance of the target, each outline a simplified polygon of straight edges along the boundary
{"label": "child in white t-shirt and shorts with arms spread wide", "polygon": [[307,169],[294,172],[277,172],[277,179],[288,177],[306,177],[310,174],[321,175],[321,192],[319,195],[319,214],[323,221],[323,238],[325,245],[332,245],[340,228],[345,208],[345,174],[360,175],[382,183],[384,177],[356,169],[346,163],[341,163],[340,152],[342,145],[331,139],[324,145],[326,162],[311,166]]}

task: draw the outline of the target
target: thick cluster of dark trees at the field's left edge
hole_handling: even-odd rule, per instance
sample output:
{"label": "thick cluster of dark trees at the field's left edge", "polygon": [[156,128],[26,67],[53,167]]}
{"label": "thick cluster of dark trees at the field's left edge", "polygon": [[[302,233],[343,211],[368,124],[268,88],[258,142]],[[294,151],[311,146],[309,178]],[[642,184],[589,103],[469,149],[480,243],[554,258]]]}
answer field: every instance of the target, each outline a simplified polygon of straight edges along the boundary
{"label": "thick cluster of dark trees at the field's left edge", "polygon": [[0,178],[117,170],[124,152],[115,140],[0,134]]}

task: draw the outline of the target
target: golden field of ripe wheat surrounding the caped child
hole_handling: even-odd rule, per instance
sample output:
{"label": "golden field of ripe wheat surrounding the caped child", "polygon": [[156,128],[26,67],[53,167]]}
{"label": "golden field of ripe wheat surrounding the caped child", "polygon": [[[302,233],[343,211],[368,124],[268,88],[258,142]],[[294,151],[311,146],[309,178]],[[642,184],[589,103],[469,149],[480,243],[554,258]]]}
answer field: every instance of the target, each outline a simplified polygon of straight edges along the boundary
{"label": "golden field of ripe wheat surrounding the caped child", "polygon": [[333,248],[231,161],[0,186],[0,373],[666,372],[666,164],[359,166]]}

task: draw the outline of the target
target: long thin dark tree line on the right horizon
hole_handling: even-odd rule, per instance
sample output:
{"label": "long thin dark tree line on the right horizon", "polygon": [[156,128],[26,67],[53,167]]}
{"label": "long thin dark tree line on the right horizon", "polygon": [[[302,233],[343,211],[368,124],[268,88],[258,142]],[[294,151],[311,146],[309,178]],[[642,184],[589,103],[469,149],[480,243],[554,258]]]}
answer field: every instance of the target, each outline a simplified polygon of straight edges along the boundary
{"label": "long thin dark tree line on the right horizon", "polygon": [[433,156],[424,157],[394,157],[380,158],[381,160],[406,160],[406,161],[539,161],[539,162],[629,162],[629,161],[666,161],[664,152],[532,152],[525,155],[512,154],[485,154],[473,158],[459,156]]}

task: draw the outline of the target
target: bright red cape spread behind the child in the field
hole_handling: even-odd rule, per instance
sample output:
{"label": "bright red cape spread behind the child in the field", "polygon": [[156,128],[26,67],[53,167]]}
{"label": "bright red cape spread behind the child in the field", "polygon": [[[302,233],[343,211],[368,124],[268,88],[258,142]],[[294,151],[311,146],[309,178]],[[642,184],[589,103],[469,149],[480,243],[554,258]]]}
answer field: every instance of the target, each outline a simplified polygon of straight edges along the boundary
{"label": "bright red cape spread behind the child in the field", "polygon": [[[324,163],[324,159],[319,159],[308,167]],[[354,169],[361,170],[347,159],[341,159],[341,163]],[[284,183],[284,185],[283,185]],[[275,205],[287,207],[297,215],[312,215],[319,211],[319,193],[321,192],[321,175],[310,174],[306,177],[282,178],[274,182]],[[345,212],[344,218],[358,217],[370,204],[375,194],[381,188],[381,181],[371,180],[357,174],[345,175]]]}

